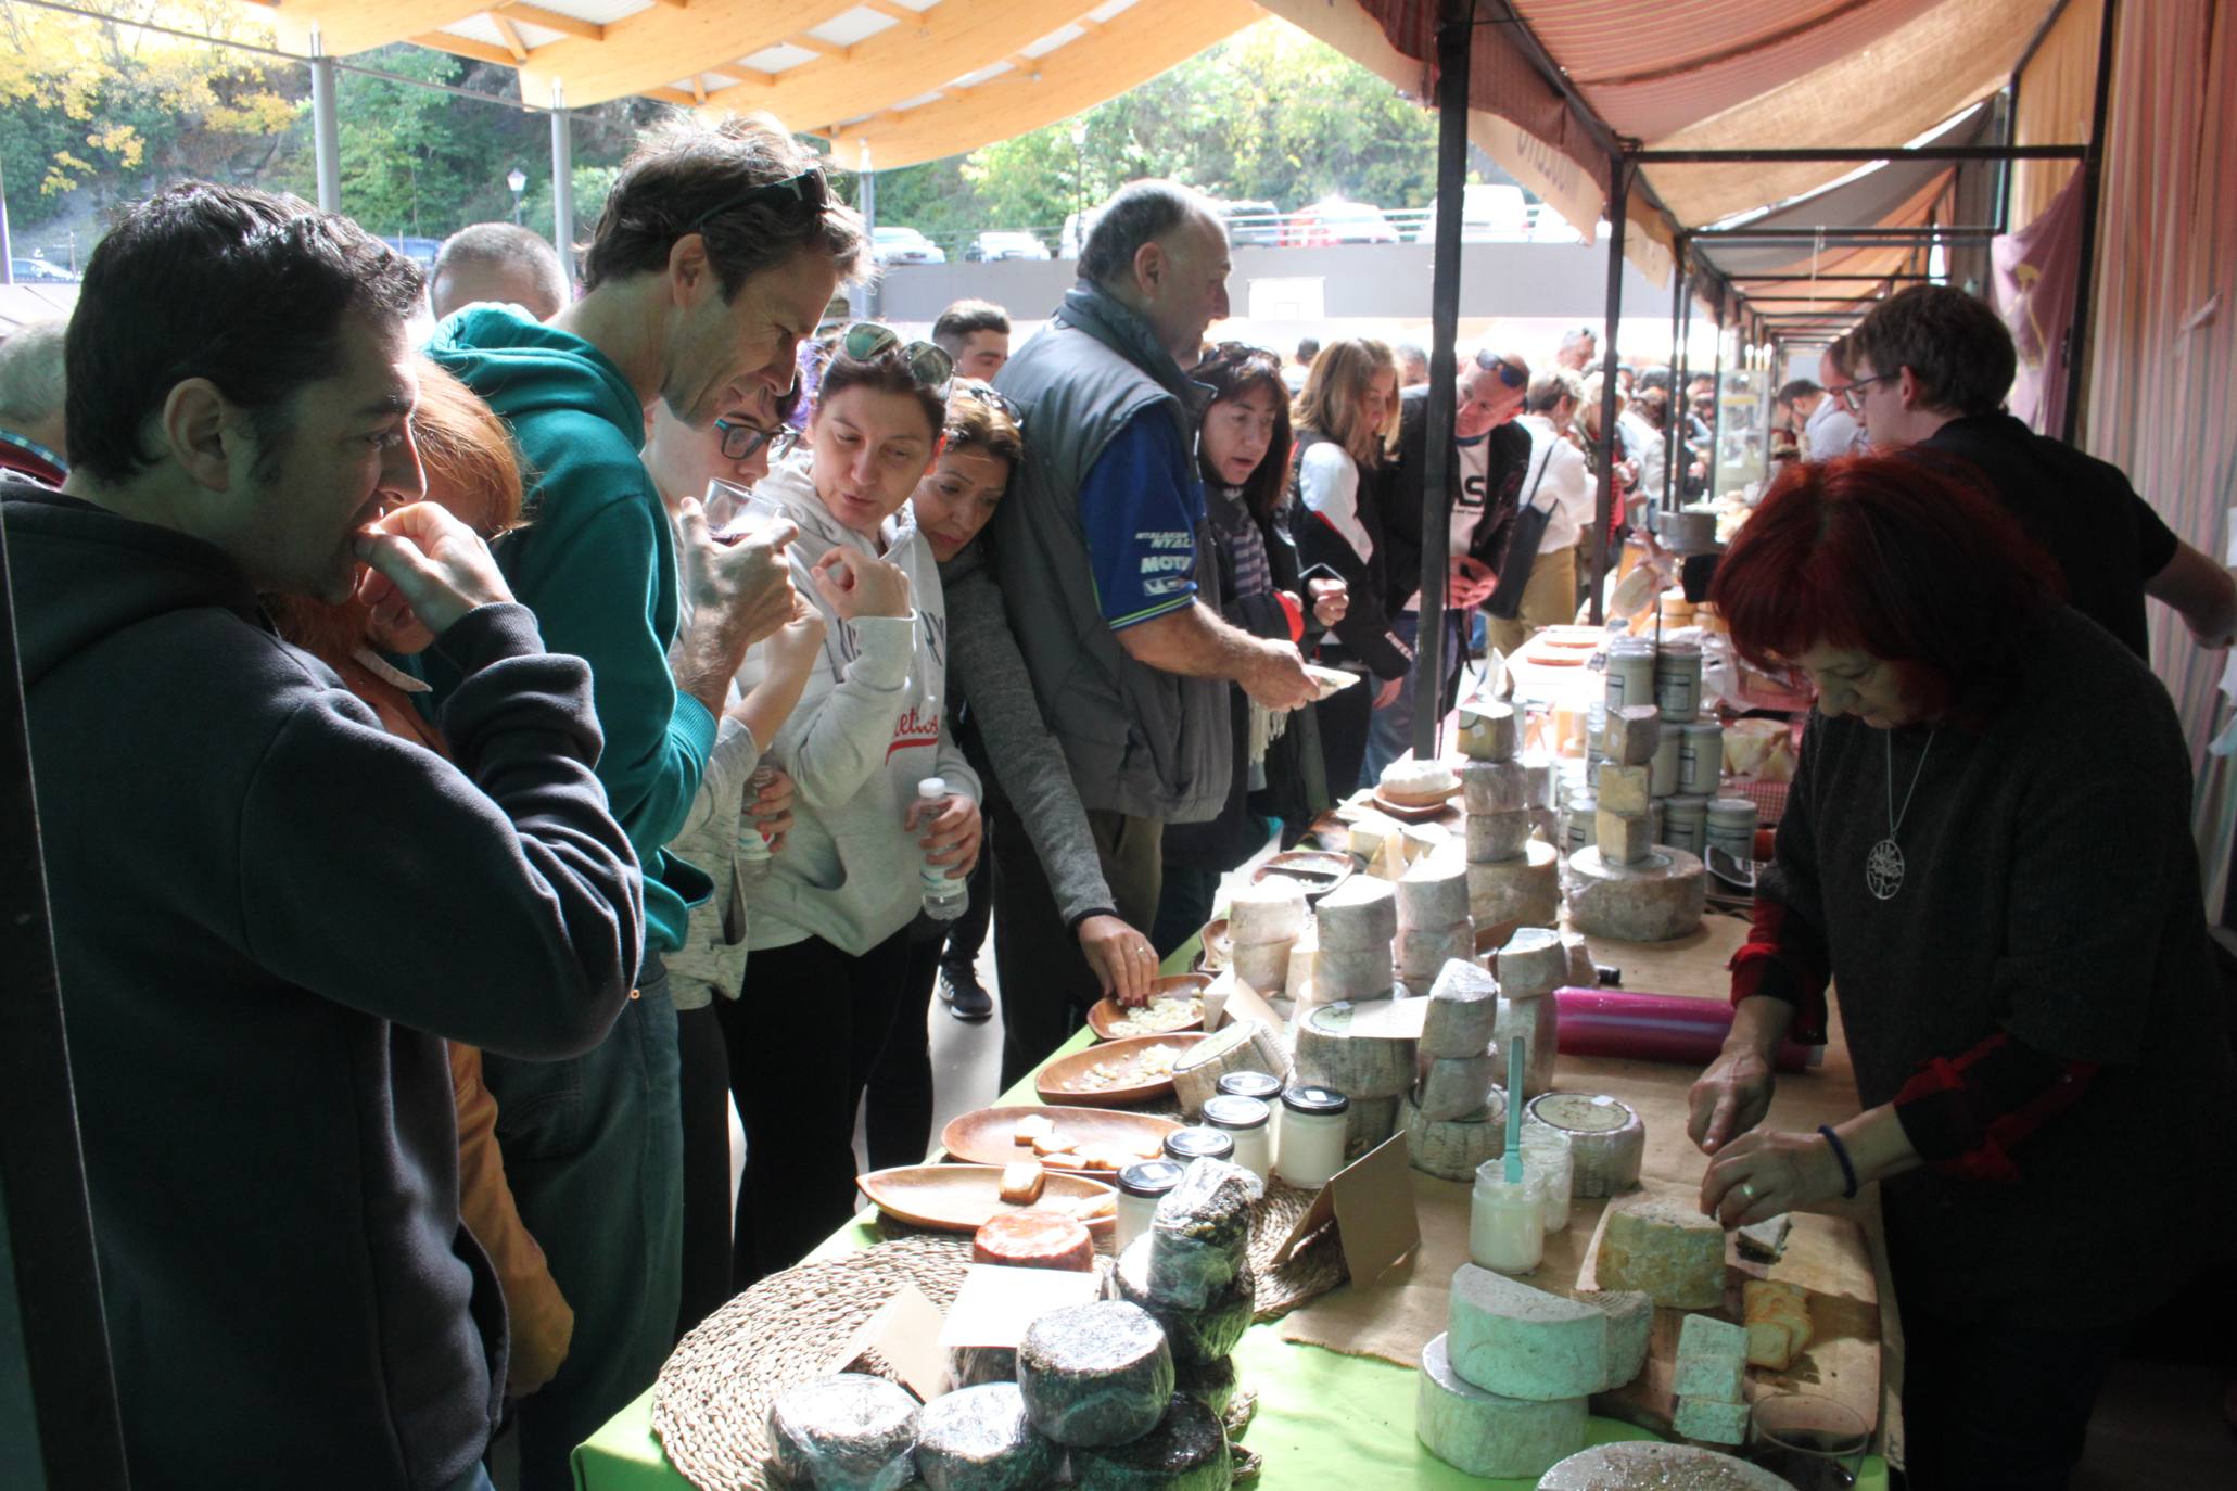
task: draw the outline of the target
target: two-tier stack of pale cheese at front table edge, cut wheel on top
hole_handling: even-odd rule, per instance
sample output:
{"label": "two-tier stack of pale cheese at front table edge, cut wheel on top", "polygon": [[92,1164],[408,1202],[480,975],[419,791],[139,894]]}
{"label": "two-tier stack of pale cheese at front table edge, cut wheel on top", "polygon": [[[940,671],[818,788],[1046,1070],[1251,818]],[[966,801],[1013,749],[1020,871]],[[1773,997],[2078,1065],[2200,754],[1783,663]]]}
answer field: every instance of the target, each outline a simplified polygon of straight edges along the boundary
{"label": "two-tier stack of pale cheese at front table edge, cut wheel on top", "polygon": [[1467,1475],[1544,1475],[1584,1449],[1586,1399],[1637,1375],[1651,1323],[1635,1297],[1566,1299],[1463,1263],[1420,1355],[1414,1433]]}

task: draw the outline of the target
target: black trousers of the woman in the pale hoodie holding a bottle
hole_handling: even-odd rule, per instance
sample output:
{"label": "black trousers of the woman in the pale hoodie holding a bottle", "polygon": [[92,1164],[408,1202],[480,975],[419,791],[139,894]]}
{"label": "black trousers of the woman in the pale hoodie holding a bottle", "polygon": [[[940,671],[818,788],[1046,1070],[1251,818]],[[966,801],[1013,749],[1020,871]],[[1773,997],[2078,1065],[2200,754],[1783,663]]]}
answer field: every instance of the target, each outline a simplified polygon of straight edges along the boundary
{"label": "black trousers of the woman in the pale hoodie holding a bottle", "polygon": [[718,1006],[745,1124],[731,1283],[792,1267],[855,1216],[855,1109],[908,979],[908,928],[861,957],[810,937],[756,948]]}

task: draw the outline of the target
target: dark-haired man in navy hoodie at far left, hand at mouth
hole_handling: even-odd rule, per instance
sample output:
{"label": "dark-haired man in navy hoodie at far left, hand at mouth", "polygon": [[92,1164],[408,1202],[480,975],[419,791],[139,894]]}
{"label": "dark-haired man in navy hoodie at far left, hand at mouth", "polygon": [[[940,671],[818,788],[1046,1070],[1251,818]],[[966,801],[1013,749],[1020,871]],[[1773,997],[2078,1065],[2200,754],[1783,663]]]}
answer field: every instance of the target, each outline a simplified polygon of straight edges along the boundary
{"label": "dark-haired man in navy hoodie at far left, hand at mouth", "polygon": [[[141,1487],[488,1487],[503,1305],[443,1037],[584,1051],[642,948],[588,668],[416,501],[418,291],[349,219],[166,190],[87,264],[65,492],[0,487]],[[353,583],[465,680],[456,767],[257,601]]]}

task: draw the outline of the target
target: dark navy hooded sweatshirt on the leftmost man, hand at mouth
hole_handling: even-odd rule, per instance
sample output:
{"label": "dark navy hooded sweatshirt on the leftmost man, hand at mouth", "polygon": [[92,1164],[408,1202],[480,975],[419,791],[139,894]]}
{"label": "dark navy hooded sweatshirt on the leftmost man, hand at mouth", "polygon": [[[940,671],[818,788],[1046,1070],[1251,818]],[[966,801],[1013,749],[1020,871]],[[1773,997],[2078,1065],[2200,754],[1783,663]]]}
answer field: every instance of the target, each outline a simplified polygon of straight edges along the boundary
{"label": "dark navy hooded sweatshirt on the leftmost man, hand at mouth", "polygon": [[132,1480],[447,1487],[506,1361],[443,1037],[586,1051],[642,952],[588,671],[470,612],[454,767],[217,548],[0,494]]}

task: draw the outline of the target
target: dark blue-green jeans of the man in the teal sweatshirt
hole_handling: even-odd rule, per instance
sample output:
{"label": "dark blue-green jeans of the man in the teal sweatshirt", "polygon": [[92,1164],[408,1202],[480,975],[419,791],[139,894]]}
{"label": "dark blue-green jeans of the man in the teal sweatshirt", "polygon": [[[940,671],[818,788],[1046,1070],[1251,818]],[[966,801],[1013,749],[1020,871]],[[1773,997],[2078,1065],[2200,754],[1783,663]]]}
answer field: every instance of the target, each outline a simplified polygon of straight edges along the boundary
{"label": "dark blue-green jeans of the man in the teal sweatshirt", "polygon": [[566,1062],[481,1057],[521,1223],[575,1310],[559,1375],[519,1399],[521,1489],[570,1491],[568,1457],[651,1386],[673,1346],[682,1274],[682,1115],[669,975]]}

